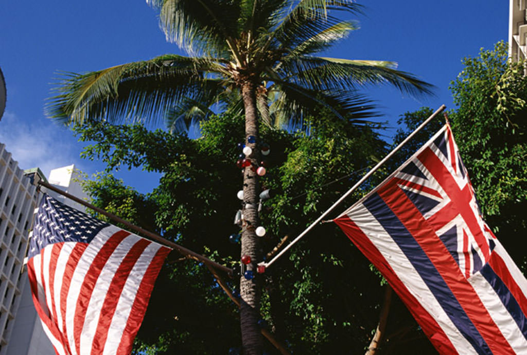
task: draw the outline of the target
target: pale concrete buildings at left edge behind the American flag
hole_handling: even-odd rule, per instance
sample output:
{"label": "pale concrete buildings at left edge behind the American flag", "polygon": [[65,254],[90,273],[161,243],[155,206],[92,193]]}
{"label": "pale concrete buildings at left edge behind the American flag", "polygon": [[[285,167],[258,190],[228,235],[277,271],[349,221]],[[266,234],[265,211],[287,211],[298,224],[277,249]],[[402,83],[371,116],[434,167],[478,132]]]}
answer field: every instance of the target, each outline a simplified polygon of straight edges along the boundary
{"label": "pale concrete buildings at left edge behind the American flag", "polygon": [[[40,169],[23,172],[0,143],[0,355],[54,355],[33,305],[31,287],[24,271],[24,257],[33,213],[42,197],[34,179],[46,180]],[[87,198],[74,165],[51,171],[48,182]],[[42,189],[46,190],[45,188]],[[85,211],[84,206],[45,191],[57,200]]]}

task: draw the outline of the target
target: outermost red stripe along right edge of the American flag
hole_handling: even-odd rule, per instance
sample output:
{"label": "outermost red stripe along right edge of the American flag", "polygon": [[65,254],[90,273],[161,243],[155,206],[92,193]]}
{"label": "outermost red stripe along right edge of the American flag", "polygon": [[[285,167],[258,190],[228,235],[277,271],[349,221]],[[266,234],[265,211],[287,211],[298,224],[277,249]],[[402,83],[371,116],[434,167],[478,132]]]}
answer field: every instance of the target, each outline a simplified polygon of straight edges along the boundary
{"label": "outermost red stripe along right edge of the American flag", "polygon": [[121,342],[115,355],[129,355],[132,351],[133,340],[143,321],[144,312],[147,310],[155,279],[158,277],[163,261],[167,258],[170,251],[171,249],[162,246],[152,259],[147,272],[144,273],[141,285],[139,285],[139,289],[135,294],[130,317],[128,318],[128,322],[126,322],[126,327],[124,328],[123,336],[121,337]]}

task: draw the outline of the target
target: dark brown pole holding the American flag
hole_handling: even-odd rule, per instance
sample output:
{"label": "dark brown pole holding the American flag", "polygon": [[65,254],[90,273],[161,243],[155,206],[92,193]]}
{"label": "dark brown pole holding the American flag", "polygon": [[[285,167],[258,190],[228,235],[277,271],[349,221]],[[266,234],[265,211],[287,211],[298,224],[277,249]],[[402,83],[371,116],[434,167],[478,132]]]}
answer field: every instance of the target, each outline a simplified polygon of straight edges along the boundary
{"label": "dark brown pole holding the American flag", "polygon": [[69,194],[67,192],[62,191],[61,189],[57,189],[57,188],[55,188],[55,186],[50,185],[50,184],[48,184],[45,181],[38,180],[37,184],[41,185],[41,186],[44,186],[46,189],[50,189],[51,191],[55,191],[56,193],[61,194],[61,195],[65,196],[65,197],[67,197],[70,200],[73,200],[73,201],[75,201],[77,203],[80,203],[80,204],[82,204],[83,206],[86,206],[89,209],[92,209],[92,210],[94,210],[96,212],[99,212],[99,213],[105,215],[106,217],[114,220],[115,222],[122,223],[125,226],[127,226],[128,228],[130,228],[130,229],[132,229],[132,230],[134,230],[136,232],[139,232],[141,234],[144,234],[144,235],[148,236],[149,238],[151,238],[151,239],[153,239],[153,240],[155,240],[155,241],[157,241],[157,242],[159,242],[159,243],[161,243],[163,245],[167,245],[170,248],[177,250],[178,252],[180,252],[181,254],[185,255],[188,258],[191,258],[191,259],[203,262],[203,263],[205,263],[207,265],[210,265],[214,269],[225,271],[225,272],[227,272],[229,274],[229,276],[232,276],[232,269],[226,267],[225,265],[219,264],[219,263],[217,263],[215,261],[212,261],[212,260],[210,260],[210,259],[208,259],[206,257],[203,257],[203,255],[200,255],[200,254],[198,254],[196,252],[193,252],[190,249],[184,248],[184,246],[181,246],[179,244],[171,242],[168,239],[164,239],[159,234],[155,234],[155,233],[152,233],[152,232],[147,231],[145,229],[142,229],[140,226],[137,226],[137,225],[132,224],[132,223],[130,223],[128,221],[125,221],[122,218],[120,218],[120,217],[118,217],[118,216],[116,216],[116,215],[114,215],[112,213],[106,212],[103,209],[100,209],[100,208],[92,205],[91,203],[88,203],[88,202],[86,202],[84,200],[76,198],[75,196],[73,196],[73,195],[71,195],[71,194]]}

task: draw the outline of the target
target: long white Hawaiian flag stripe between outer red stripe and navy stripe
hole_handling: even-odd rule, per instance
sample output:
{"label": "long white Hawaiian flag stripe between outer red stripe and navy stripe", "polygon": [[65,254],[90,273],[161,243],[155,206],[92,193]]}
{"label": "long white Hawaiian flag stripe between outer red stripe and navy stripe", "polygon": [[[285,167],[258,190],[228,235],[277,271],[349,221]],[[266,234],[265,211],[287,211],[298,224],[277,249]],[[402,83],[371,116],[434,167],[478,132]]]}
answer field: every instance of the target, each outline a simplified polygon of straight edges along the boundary
{"label": "long white Hawaiian flag stripe between outer red stripe and navy stripe", "polygon": [[[358,211],[357,211],[358,210]],[[430,313],[437,321],[445,335],[450,339],[456,349],[464,349],[463,355],[477,354],[472,345],[462,336],[460,331],[454,326],[451,319],[445,313],[434,294],[424,283],[421,275],[412,267],[401,248],[395,243],[392,237],[384,230],[375,217],[360,203],[355,206],[353,211],[347,211],[350,219],[366,234],[368,239],[375,245],[375,248],[383,255],[390,267],[397,274],[399,280],[403,282],[408,292],[410,292],[421,306]],[[353,216],[353,218],[351,218]],[[416,293],[414,290],[419,290]]]}

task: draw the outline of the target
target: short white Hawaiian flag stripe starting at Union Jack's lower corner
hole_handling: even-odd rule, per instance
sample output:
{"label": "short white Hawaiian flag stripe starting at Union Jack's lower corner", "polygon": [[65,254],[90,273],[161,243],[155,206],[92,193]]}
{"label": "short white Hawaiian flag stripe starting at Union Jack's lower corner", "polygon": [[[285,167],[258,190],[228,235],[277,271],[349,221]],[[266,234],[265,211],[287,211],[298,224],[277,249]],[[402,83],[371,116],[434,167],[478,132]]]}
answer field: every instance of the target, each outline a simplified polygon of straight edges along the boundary
{"label": "short white Hawaiian flag stripe starting at Union Jack's lower corner", "polygon": [[515,353],[527,353],[527,341],[489,282],[480,272],[472,275],[469,282]]}

